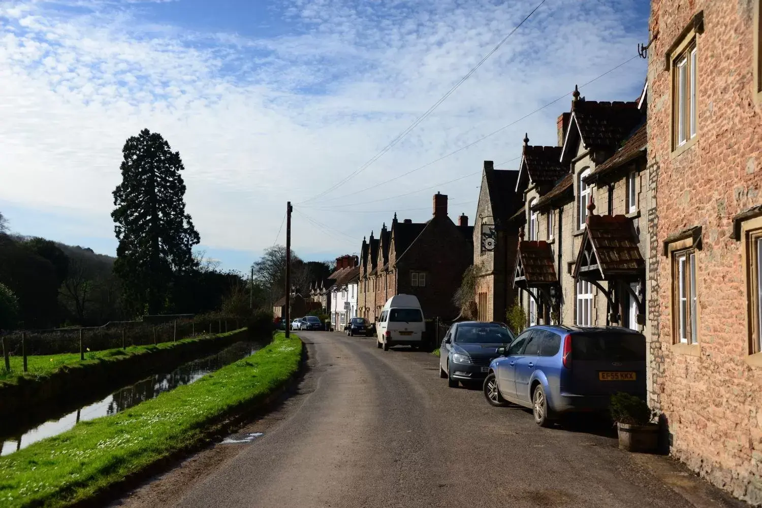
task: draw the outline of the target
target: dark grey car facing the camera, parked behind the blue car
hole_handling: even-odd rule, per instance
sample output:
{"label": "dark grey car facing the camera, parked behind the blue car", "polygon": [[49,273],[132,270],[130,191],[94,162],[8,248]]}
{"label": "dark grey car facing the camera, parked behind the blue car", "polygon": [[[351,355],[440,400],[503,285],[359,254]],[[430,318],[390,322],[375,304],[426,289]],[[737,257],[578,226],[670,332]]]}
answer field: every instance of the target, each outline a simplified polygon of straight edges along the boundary
{"label": "dark grey car facing the camera, parked behind the blue car", "polygon": [[514,335],[500,323],[461,321],[444,335],[439,349],[439,375],[447,378],[450,388],[458,383],[487,377],[490,362],[514,340]]}

